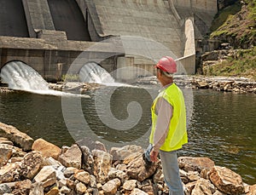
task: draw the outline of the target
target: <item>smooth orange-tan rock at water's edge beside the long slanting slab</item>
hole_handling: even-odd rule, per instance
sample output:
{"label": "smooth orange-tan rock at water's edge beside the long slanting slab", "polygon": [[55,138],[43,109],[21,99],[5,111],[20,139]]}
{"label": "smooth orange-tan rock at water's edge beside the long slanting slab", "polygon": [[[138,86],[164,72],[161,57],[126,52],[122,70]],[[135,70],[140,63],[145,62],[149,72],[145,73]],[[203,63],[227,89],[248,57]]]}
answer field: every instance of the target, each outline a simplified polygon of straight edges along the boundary
{"label": "smooth orange-tan rock at water's edge beside the long slanting slab", "polygon": [[44,139],[42,138],[34,141],[32,145],[32,150],[41,152],[44,158],[52,157],[58,159],[61,153],[60,147],[55,146],[48,141],[44,141]]}

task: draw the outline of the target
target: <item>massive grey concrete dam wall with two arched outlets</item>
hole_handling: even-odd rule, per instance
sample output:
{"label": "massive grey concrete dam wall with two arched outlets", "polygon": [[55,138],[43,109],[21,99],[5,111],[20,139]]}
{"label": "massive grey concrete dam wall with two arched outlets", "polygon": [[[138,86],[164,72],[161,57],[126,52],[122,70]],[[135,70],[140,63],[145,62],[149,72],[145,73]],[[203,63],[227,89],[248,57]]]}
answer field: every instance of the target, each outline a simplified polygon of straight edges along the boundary
{"label": "massive grey concrete dam wall with two arched outlets", "polygon": [[[195,73],[217,0],[2,0],[0,68],[19,60],[47,81],[94,61],[118,79],[154,74],[164,55]],[[137,67],[132,72],[123,67]],[[119,71],[118,71],[119,70]],[[135,71],[135,72],[134,72]]]}

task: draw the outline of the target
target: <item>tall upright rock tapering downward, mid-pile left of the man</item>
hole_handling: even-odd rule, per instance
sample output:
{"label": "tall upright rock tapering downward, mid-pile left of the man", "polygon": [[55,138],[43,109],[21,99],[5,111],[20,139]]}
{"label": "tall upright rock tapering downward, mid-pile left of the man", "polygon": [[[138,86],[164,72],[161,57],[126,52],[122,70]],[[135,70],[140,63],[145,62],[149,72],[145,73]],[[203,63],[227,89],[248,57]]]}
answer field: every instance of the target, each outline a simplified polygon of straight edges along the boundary
{"label": "tall upright rock tapering downward, mid-pile left of the man", "polygon": [[112,165],[112,155],[108,152],[94,150],[94,175],[96,175],[97,181],[104,183],[108,178],[108,171]]}

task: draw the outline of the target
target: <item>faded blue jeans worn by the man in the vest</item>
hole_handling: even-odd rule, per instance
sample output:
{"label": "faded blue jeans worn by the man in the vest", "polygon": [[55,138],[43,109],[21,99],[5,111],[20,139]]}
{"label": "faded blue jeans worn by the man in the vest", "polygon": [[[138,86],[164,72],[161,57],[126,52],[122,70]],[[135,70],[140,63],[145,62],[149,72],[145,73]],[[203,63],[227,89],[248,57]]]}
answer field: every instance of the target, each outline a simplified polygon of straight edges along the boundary
{"label": "faded blue jeans worn by the man in the vest", "polygon": [[[152,145],[149,144],[145,157],[150,161],[150,152]],[[160,159],[163,168],[166,185],[169,187],[169,195],[183,195],[183,183],[179,175],[177,163],[177,151],[164,152],[160,151]]]}

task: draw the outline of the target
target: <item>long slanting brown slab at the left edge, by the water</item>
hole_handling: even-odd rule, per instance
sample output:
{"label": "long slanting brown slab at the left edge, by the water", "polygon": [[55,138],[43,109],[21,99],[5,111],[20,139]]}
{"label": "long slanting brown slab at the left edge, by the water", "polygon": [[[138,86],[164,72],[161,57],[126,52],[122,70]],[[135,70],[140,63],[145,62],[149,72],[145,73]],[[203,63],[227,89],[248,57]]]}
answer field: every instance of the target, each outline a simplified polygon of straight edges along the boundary
{"label": "long slanting brown slab at the left edge, by the water", "polygon": [[20,132],[12,125],[8,125],[0,122],[0,136],[3,136],[9,141],[15,143],[15,145],[20,146],[24,151],[30,151],[33,144],[33,139]]}

